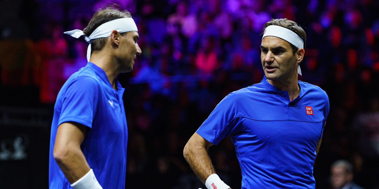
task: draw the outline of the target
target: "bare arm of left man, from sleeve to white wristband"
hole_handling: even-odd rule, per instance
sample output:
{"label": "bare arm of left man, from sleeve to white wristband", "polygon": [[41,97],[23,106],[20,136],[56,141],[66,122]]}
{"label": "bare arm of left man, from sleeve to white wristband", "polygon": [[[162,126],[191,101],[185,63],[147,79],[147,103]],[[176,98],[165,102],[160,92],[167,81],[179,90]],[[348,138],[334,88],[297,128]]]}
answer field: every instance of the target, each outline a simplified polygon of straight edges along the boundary
{"label": "bare arm of left man, from sleeve to white wristband", "polygon": [[64,122],[56,132],[53,156],[63,171],[67,180],[72,184],[89,172],[80,144],[86,134],[86,126],[76,122]]}

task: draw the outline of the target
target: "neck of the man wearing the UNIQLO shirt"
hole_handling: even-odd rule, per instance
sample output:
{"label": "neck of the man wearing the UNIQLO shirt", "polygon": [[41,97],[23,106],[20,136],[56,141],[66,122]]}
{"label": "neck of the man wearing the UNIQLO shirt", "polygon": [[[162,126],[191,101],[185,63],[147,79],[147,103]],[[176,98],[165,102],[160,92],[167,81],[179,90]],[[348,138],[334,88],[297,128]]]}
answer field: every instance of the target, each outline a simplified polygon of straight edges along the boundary
{"label": "neck of the man wearing the UNIQLO shirt", "polygon": [[289,77],[284,80],[276,79],[276,80],[269,80],[267,79],[267,82],[277,88],[280,88],[283,91],[288,91],[288,96],[290,98],[290,101],[293,101],[296,97],[300,94],[300,88],[298,84],[298,76],[297,73],[295,76]]}

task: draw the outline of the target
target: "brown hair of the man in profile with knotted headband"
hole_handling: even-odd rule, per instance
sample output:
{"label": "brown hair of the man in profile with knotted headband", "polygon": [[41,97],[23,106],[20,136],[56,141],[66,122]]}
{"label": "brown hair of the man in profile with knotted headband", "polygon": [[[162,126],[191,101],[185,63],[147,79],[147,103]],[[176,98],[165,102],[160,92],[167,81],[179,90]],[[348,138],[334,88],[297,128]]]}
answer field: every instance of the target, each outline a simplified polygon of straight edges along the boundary
{"label": "brown hair of the man in profile with knotted headband", "polygon": [[[105,8],[99,9],[91,20],[89,20],[89,23],[86,28],[83,29],[84,34],[86,36],[89,36],[92,34],[92,32],[95,31],[97,27],[102,25],[105,22],[109,22],[111,20],[115,19],[121,19],[121,18],[131,18],[132,15],[128,11],[121,11],[113,6],[107,6]],[[120,33],[122,36],[126,35],[127,32]],[[108,37],[103,37],[99,39],[92,39],[91,40],[91,53],[93,51],[100,51],[105,46],[106,40]]]}

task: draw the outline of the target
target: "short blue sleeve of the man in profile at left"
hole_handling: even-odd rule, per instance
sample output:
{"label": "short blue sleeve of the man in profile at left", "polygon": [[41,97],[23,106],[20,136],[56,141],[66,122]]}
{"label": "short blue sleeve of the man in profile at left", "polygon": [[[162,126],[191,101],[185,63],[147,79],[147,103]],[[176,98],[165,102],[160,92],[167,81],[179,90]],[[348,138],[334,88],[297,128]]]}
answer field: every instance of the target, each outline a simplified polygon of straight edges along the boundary
{"label": "short blue sleeve of the man in profile at left", "polygon": [[92,128],[100,85],[92,77],[77,77],[64,91],[58,125],[73,121]]}

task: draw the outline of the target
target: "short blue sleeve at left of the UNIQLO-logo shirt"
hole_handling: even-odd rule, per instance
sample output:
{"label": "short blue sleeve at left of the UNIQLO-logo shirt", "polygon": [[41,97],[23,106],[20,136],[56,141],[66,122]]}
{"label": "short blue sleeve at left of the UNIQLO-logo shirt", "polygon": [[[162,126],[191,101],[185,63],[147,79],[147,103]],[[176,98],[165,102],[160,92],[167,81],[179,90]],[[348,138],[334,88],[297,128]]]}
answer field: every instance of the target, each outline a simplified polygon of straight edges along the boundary
{"label": "short blue sleeve at left of the UNIQLO-logo shirt", "polygon": [[196,133],[210,143],[217,145],[223,138],[237,132],[238,99],[230,93],[216,106]]}

